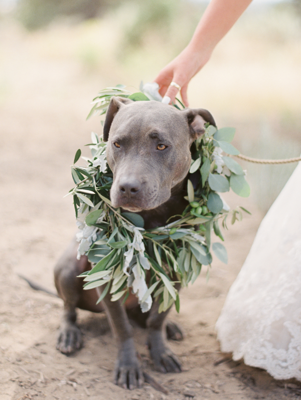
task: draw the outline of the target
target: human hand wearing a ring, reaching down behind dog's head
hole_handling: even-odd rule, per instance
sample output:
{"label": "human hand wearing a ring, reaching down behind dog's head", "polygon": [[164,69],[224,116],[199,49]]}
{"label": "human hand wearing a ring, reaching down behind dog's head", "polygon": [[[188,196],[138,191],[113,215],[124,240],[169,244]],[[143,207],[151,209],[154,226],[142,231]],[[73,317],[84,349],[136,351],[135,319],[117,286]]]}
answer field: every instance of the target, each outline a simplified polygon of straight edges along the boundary
{"label": "human hand wearing a ring, reaching down behind dog's head", "polygon": [[179,88],[171,86],[176,83],[181,87],[180,93],[183,103],[188,107],[187,88],[193,76],[206,64],[211,51],[196,51],[193,46],[187,46],[173,61],[163,68],[156,77],[159,84],[159,93],[164,96],[163,102],[175,101]]}

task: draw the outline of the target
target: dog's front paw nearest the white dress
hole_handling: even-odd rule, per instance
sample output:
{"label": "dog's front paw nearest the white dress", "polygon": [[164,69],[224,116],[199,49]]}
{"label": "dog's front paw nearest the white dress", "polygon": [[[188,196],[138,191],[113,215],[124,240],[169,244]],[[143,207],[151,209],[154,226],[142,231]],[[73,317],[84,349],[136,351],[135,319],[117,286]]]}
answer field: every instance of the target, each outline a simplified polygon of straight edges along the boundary
{"label": "dog's front paw nearest the white dress", "polygon": [[148,336],[147,345],[155,368],[160,372],[181,372],[181,363],[173,352],[164,344],[160,331]]}

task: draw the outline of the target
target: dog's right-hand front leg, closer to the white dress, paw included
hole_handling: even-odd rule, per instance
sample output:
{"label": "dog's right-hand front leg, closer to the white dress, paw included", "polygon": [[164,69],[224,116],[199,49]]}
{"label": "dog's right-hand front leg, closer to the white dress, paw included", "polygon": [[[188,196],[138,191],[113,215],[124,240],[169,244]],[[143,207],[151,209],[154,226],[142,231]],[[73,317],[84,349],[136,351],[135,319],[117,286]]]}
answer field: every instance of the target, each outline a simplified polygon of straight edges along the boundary
{"label": "dog's right-hand front leg, closer to the white dress, paw included", "polygon": [[[180,289],[180,284],[176,284],[175,287]],[[163,324],[170,309],[159,314],[159,306],[159,301],[154,301],[146,321],[150,357],[154,361],[155,368],[161,372],[181,372],[180,361],[167,347],[163,338]]]}

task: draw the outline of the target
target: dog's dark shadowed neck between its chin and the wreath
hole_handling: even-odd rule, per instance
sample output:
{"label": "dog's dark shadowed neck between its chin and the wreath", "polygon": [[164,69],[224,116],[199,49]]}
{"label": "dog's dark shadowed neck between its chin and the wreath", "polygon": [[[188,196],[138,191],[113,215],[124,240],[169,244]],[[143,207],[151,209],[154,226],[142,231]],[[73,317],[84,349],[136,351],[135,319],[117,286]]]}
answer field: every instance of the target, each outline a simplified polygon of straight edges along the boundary
{"label": "dog's dark shadowed neck between its chin and the wreath", "polygon": [[[144,219],[145,229],[164,226],[167,221],[170,223],[173,220],[179,219],[179,215],[182,214],[188,205],[188,201],[184,199],[184,196],[187,195],[187,179],[188,177],[172,188],[171,197],[168,201],[152,210],[143,210],[137,213]],[[177,215],[177,217],[171,218],[174,215]]]}

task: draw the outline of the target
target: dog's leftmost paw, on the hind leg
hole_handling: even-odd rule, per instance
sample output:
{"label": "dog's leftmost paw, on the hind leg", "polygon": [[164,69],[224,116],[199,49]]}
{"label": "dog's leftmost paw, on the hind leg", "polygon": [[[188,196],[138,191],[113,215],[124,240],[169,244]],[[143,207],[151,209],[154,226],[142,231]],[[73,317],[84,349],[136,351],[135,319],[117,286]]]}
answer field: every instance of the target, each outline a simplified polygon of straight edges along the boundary
{"label": "dog's leftmost paw, on the hind leg", "polygon": [[68,324],[60,328],[56,348],[63,354],[71,354],[79,350],[83,345],[82,333],[74,324]]}

